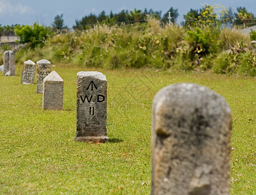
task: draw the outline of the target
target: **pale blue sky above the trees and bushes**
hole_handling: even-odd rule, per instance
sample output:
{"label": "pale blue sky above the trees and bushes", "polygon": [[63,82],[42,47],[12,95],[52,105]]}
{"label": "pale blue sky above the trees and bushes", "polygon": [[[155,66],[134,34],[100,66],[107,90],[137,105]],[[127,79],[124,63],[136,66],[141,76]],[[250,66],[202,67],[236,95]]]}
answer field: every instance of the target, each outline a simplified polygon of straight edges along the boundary
{"label": "pale blue sky above the trees and bushes", "polygon": [[0,0],[0,24],[2,26],[20,24],[32,25],[34,22],[40,25],[52,25],[55,16],[63,14],[64,24],[68,27],[75,25],[89,14],[100,14],[102,10],[107,15],[112,11],[114,14],[121,10],[162,11],[162,16],[173,6],[178,9],[178,23],[184,21],[183,15],[187,14],[190,8],[202,8],[202,5],[223,5],[226,8],[246,7],[249,12],[256,15],[255,0]]}

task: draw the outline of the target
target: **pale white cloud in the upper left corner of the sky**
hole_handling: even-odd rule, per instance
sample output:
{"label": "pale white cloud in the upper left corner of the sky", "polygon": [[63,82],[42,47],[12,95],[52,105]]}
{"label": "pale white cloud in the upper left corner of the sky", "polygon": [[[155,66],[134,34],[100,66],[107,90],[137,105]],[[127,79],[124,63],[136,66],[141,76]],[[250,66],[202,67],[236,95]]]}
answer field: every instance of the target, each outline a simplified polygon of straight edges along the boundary
{"label": "pale white cloud in the upper left corner of the sky", "polygon": [[0,14],[31,14],[35,11],[26,5],[21,5],[21,3],[18,3],[17,5],[12,5],[10,3],[10,0],[0,0]]}

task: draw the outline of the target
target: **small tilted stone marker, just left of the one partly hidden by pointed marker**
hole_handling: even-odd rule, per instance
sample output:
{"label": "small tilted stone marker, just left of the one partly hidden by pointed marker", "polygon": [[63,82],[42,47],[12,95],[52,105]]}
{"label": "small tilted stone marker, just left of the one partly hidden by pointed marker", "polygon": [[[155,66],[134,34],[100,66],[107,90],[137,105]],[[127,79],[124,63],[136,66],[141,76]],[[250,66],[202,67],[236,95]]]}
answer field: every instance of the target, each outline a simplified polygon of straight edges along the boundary
{"label": "small tilted stone marker, just left of the one partly hidden by pointed marker", "polygon": [[21,75],[21,84],[34,84],[35,81],[36,64],[32,60],[27,60],[23,64]]}

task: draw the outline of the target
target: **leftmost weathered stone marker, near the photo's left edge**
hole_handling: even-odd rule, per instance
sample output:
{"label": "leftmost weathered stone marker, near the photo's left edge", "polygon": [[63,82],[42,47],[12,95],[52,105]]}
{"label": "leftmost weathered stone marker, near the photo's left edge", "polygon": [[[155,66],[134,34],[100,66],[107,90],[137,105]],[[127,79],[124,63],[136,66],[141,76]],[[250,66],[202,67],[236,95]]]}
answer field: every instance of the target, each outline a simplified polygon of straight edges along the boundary
{"label": "leftmost weathered stone marker, near the photo's left edge", "polygon": [[15,76],[15,54],[13,51],[3,53],[3,75]]}

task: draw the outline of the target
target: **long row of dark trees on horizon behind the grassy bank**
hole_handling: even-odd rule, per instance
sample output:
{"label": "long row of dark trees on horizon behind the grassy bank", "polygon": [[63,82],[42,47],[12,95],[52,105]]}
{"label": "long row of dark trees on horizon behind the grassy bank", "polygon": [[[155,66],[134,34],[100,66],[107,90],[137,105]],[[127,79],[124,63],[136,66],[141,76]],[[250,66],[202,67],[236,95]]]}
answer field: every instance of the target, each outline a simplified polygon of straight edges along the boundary
{"label": "long row of dark trees on horizon behind the grassy bank", "polygon": [[[170,15],[169,15],[170,14]],[[97,23],[106,23],[108,25],[113,24],[128,24],[128,23],[144,23],[147,22],[149,18],[159,19],[162,24],[166,23],[177,23],[178,9],[171,7],[163,16],[162,11],[154,11],[150,9],[149,11],[145,8],[144,11],[134,9],[132,11],[122,10],[118,14],[113,14],[110,12],[106,15],[105,11],[102,11],[98,16],[95,14],[89,14],[81,19],[76,20],[76,25],[73,26],[75,30],[83,30],[88,27],[92,27]],[[251,25],[256,25],[256,16],[248,12],[245,7],[236,8],[236,12],[233,8],[226,8],[220,5],[204,5],[199,10],[190,9],[187,14],[183,15],[185,21],[181,23],[183,26],[197,25],[201,21],[211,21],[212,24],[223,23],[229,26],[241,26],[249,27]]]}

